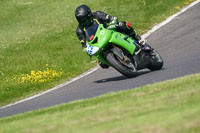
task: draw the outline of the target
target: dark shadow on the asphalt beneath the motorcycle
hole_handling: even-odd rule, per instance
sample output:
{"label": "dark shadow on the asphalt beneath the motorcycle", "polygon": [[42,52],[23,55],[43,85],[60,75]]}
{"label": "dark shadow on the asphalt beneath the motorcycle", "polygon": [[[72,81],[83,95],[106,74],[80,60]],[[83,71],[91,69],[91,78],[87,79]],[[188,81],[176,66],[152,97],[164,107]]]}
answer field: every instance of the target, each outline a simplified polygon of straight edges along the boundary
{"label": "dark shadow on the asphalt beneath the motorcycle", "polygon": [[[147,73],[150,73],[150,72],[151,71],[149,71],[149,70],[140,71],[140,72],[138,72],[138,76],[144,75],[144,74],[147,74]],[[134,77],[134,78],[137,78],[137,77]],[[126,77],[124,75],[121,75],[121,76],[117,76],[117,77],[112,77],[112,78],[97,80],[97,81],[94,81],[94,82],[95,83],[105,83],[105,82],[113,82],[113,81],[122,81],[122,80],[126,80],[126,79],[130,79],[130,78],[128,78],[128,77]]]}

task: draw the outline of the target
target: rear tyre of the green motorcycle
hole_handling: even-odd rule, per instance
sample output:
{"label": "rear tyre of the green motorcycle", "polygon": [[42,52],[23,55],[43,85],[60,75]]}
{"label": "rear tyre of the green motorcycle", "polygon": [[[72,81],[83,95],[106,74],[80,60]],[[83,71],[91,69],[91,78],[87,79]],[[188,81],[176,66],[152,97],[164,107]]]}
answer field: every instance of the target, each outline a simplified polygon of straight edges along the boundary
{"label": "rear tyre of the green motorcycle", "polygon": [[150,69],[151,71],[162,69],[163,67],[162,57],[155,49],[153,49],[152,52],[153,52],[153,55],[150,55],[150,65],[148,69]]}

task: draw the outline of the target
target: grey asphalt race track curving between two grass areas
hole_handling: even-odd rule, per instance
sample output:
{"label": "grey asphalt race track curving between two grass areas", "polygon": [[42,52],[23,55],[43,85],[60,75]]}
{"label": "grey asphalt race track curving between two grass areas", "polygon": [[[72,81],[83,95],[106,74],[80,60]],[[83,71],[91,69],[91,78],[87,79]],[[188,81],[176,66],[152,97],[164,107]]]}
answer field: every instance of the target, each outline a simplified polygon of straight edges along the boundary
{"label": "grey asphalt race track curving between two grass areas", "polygon": [[97,71],[45,95],[0,108],[0,117],[95,97],[200,72],[200,3],[151,34],[151,44],[163,57],[164,68],[143,70],[128,79],[112,68]]}

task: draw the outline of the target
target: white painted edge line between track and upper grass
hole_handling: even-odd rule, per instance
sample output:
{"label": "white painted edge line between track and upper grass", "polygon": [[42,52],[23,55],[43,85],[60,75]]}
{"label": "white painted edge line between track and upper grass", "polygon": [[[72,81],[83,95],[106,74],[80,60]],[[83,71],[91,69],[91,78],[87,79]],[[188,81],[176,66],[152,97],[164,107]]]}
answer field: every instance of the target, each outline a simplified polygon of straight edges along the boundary
{"label": "white painted edge line between track and upper grass", "polygon": [[[180,15],[180,14],[182,14],[183,12],[187,11],[189,8],[193,7],[194,5],[198,4],[199,2],[200,2],[200,0],[196,0],[196,1],[192,2],[192,3],[189,4],[188,6],[184,7],[183,9],[181,9],[179,12],[175,13],[174,15],[172,15],[172,16],[170,16],[169,18],[167,18],[166,20],[164,20],[163,22],[161,22],[161,23],[155,25],[151,30],[149,30],[147,33],[143,34],[142,37],[147,38],[147,37],[148,37],[149,35],[151,35],[153,32],[155,32],[156,30],[160,29],[162,26],[166,25],[167,23],[169,23],[170,21],[172,21],[175,17],[177,17],[178,15]],[[55,87],[53,87],[53,88],[51,88],[51,89],[49,89],[49,90],[46,90],[46,91],[41,92],[41,93],[39,93],[39,94],[36,94],[36,95],[34,95],[34,96],[31,96],[31,97],[25,98],[25,99],[23,99],[23,100],[20,100],[20,101],[17,101],[17,102],[8,104],[8,105],[6,105],[6,106],[0,107],[0,110],[1,110],[1,109],[4,109],[4,108],[7,108],[7,107],[10,107],[10,106],[13,106],[13,105],[16,105],[16,104],[19,104],[19,103],[22,103],[22,102],[25,102],[25,101],[28,101],[28,100],[31,100],[31,99],[34,99],[34,98],[36,98],[36,97],[42,96],[42,95],[47,94],[47,93],[49,93],[49,92],[52,92],[52,91],[54,91],[54,90],[57,90],[57,89],[59,89],[59,88],[65,86],[65,85],[68,85],[68,84],[70,84],[70,83],[72,83],[72,82],[74,82],[74,81],[76,81],[76,80],[79,80],[79,79],[81,79],[81,78],[83,78],[83,77],[85,77],[85,76],[87,76],[87,75],[93,73],[94,71],[96,71],[96,70],[98,70],[98,69],[99,69],[99,66],[96,66],[96,67],[90,69],[89,71],[87,71],[87,72],[85,72],[85,73],[83,73],[83,74],[81,74],[81,75],[79,75],[79,76],[77,76],[77,77],[71,79],[70,81],[67,81],[67,82],[65,82],[65,83],[63,83],[63,84],[60,84],[60,85],[58,85],[58,86],[55,86]]]}

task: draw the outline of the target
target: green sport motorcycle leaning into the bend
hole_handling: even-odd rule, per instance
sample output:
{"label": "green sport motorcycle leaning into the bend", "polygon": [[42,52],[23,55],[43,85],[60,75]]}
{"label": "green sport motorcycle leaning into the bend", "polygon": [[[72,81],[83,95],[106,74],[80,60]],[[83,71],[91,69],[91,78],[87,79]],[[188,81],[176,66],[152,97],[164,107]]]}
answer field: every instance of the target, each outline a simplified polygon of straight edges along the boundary
{"label": "green sport motorcycle leaning into the bend", "polygon": [[155,71],[163,66],[163,59],[155,49],[146,51],[128,35],[108,30],[102,24],[88,27],[86,37],[87,53],[126,77],[136,77],[141,69]]}

